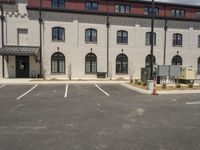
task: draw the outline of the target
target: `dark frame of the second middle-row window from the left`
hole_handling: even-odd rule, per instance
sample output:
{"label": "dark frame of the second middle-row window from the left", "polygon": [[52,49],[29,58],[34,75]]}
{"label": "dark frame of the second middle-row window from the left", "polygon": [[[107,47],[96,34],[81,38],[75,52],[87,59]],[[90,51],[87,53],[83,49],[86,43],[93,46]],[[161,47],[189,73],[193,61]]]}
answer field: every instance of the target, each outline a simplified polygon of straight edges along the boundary
{"label": "dark frame of the second middle-row window from the left", "polygon": [[[87,37],[87,32],[89,32],[89,37]],[[93,32],[95,32],[96,37],[93,36]],[[85,43],[96,44],[97,43],[97,37],[98,37],[97,29],[94,29],[94,28],[85,29]]]}

